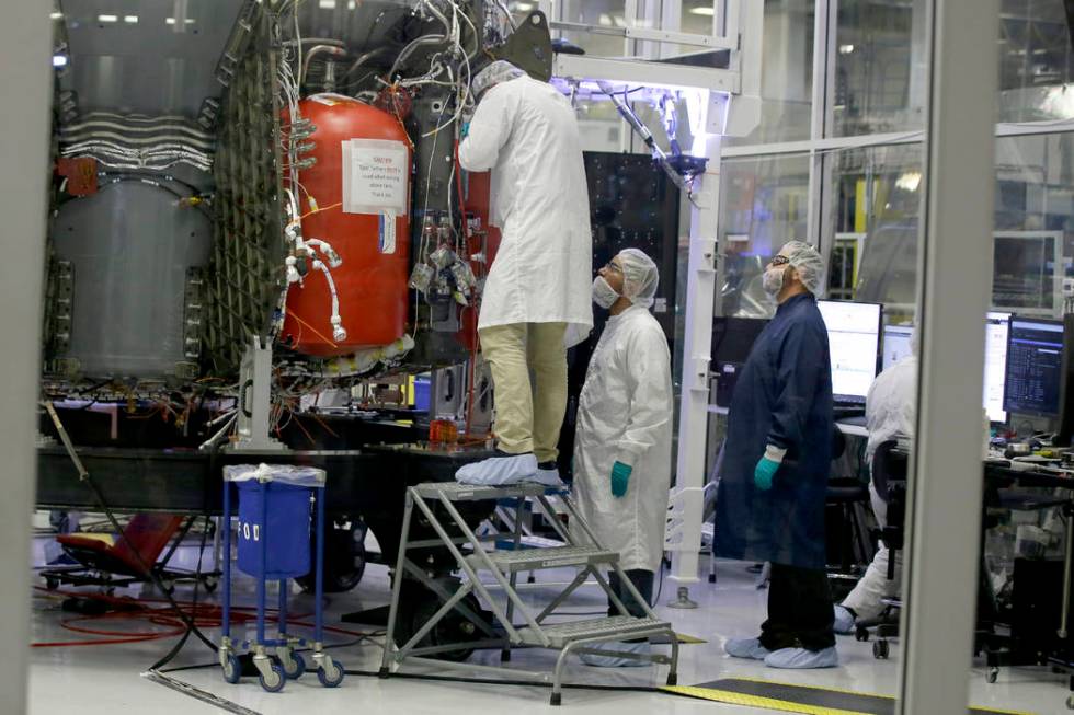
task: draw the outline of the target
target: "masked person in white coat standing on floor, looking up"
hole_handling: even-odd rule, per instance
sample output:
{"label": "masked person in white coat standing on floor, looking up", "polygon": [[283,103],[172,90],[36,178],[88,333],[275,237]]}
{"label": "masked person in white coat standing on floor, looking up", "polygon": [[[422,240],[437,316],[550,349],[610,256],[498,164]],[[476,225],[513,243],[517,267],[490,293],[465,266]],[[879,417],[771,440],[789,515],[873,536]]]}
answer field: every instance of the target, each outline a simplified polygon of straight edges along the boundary
{"label": "masked person in white coat standing on floor, looking up", "polygon": [[[664,553],[673,410],[667,338],[649,311],[658,280],[656,264],[627,249],[593,281],[593,300],[610,316],[590,359],[574,441],[574,495],[582,518],[602,546],[619,552],[620,567],[650,606]],[[645,615],[615,572],[608,580],[631,615]],[[619,614],[610,603],[608,612]],[[648,647],[626,643],[616,649],[644,653]],[[612,656],[582,660],[647,665]]]}

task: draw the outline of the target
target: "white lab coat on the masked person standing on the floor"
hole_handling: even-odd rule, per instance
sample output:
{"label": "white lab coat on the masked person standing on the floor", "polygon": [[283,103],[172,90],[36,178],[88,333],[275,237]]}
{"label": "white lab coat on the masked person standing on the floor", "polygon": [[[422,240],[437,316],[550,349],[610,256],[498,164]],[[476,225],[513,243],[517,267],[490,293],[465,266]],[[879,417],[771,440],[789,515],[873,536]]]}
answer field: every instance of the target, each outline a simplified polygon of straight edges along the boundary
{"label": "white lab coat on the masked person standing on the floor", "polygon": [[[648,309],[608,319],[579,400],[574,493],[601,545],[625,570],[656,572],[671,487],[672,377],[667,339]],[[612,496],[612,465],[633,468],[627,494]]]}

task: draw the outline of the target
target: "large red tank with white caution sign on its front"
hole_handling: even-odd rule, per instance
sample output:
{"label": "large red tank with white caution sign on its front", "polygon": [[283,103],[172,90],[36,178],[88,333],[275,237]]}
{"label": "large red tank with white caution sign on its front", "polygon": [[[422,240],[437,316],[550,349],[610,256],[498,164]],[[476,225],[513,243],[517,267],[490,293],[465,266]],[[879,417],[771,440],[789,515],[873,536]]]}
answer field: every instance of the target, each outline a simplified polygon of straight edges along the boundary
{"label": "large red tank with white caution sign on its front", "polygon": [[[310,260],[302,282],[287,291],[279,339],[321,357],[389,345],[407,330],[410,139],[395,116],[349,96],[315,94],[299,108],[316,127],[301,140],[315,147],[299,159],[317,160],[299,172],[302,238],[327,242],[342,260],[330,272],[346,337],[333,336],[330,285]],[[329,265],[318,244],[311,245]]]}

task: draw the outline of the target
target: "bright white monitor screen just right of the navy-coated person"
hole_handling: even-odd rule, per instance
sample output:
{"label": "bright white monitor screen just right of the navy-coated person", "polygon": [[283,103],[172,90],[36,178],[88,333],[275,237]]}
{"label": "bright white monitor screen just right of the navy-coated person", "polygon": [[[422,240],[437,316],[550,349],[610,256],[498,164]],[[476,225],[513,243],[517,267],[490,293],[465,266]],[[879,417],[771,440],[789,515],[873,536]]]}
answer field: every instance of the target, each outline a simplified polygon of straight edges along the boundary
{"label": "bright white monitor screen just right of the navy-coated person", "polygon": [[865,404],[880,364],[880,303],[819,300],[832,353],[832,395],[839,404]]}

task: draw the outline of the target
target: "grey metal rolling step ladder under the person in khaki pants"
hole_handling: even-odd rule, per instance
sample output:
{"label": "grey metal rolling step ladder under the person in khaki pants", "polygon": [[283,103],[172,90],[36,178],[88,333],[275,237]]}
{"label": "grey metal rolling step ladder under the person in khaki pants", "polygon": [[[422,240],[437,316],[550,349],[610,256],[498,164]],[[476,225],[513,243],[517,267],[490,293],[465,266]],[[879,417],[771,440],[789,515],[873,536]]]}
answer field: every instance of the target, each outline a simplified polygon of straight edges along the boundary
{"label": "grey metal rolling step ladder under the person in khaki pants", "polygon": [[[572,524],[571,529],[567,529],[560,521],[560,511],[552,505],[553,498],[562,505],[563,512],[568,515]],[[522,549],[523,520],[519,518],[515,520],[514,549],[496,551],[494,541],[498,537],[477,535],[455,506],[455,503],[458,501],[480,500],[496,500],[500,504],[514,500],[519,511],[528,500],[544,514],[565,545],[550,549]],[[437,539],[410,539],[410,526],[414,518],[415,507],[424,521],[435,531]],[[437,516],[437,510],[441,510],[442,515],[446,514],[446,518]],[[453,537],[449,530],[461,535]],[[430,546],[446,547],[455,557],[459,570],[466,576],[454,593],[444,588],[442,581],[429,577],[420,564],[408,557],[408,554],[414,550],[429,549]],[[540,613],[534,615],[515,588],[518,573],[563,567],[578,568],[578,575]],[[636,603],[644,608],[645,615],[643,618],[636,618],[627,611],[622,601],[612,591],[603,573],[604,569],[614,570],[618,574],[622,587],[629,591]],[[503,597],[496,599],[492,596],[489,586],[482,584],[479,578],[479,572],[488,572],[492,575],[495,585],[502,589]],[[585,621],[546,623],[546,619],[552,615],[570,598],[571,593],[585,584],[591,576],[608,596],[619,614]],[[407,643],[397,647],[393,636],[397,632],[397,619],[400,616],[400,593],[407,577],[416,579],[432,590],[439,599],[441,608],[413,633]],[[491,622],[482,618],[471,606],[468,606],[465,599],[470,597],[469,603],[472,604],[471,595],[473,593],[480,597],[492,610]],[[456,615],[461,614],[472,623],[471,631],[478,637],[459,643],[423,645],[423,641],[433,632],[437,623],[453,611]],[[525,621],[524,625],[514,623],[515,613]],[[661,644],[667,643],[671,646],[671,656],[656,653],[633,654],[592,648],[592,646],[602,643],[651,639],[653,637],[660,637]],[[548,648],[559,650],[560,655],[551,673],[453,662],[426,657],[466,651],[472,648],[496,647],[501,649],[501,662],[511,660],[511,651],[514,648]],[[656,618],[656,614],[638,593],[626,573],[619,567],[619,554],[599,545],[599,541],[582,519],[570,495],[562,489],[550,489],[539,484],[491,487],[444,482],[419,484],[407,489],[402,538],[392,581],[388,633],[380,668],[381,678],[388,678],[398,671],[403,661],[423,662],[437,668],[490,671],[501,676],[504,673],[512,677],[522,676],[539,682],[551,681],[550,703],[559,705],[562,702],[563,666],[568,657],[571,654],[586,653],[621,656],[667,665],[671,667],[667,673],[667,684],[674,685],[677,682],[678,639],[671,624]]]}

